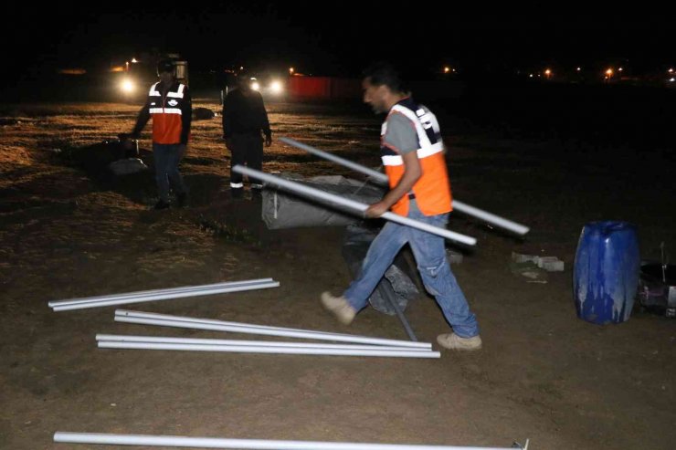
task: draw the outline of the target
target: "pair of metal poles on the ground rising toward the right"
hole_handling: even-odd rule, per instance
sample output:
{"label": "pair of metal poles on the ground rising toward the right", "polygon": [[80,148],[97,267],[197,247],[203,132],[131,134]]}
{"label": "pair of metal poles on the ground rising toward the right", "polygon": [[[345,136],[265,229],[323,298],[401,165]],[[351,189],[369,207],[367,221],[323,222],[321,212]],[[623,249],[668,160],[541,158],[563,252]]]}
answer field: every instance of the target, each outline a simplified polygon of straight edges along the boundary
{"label": "pair of metal poles on the ground rising toward the right", "polygon": [[114,305],[126,305],[129,303],[141,303],[143,301],[166,300],[169,298],[186,298],[227,292],[240,292],[244,290],[278,288],[279,281],[272,278],[250,279],[245,281],[228,281],[202,286],[186,286],[183,288],[166,288],[113,294],[99,297],[71,298],[69,300],[50,301],[49,308],[55,311],[69,311],[72,309],[100,308]]}

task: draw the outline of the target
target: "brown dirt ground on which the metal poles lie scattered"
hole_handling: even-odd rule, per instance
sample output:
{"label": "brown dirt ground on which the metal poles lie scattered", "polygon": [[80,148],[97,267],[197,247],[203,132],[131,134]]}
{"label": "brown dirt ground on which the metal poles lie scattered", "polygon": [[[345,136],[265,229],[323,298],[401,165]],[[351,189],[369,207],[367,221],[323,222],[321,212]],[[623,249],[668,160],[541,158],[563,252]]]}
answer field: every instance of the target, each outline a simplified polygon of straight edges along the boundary
{"label": "brown dirt ground on which the metal poles lie scattered", "polygon": [[[218,110],[216,100],[195,106]],[[676,322],[639,310],[620,325],[577,319],[571,270],[582,226],[594,220],[636,224],[646,259],[659,258],[662,241],[676,255],[667,153],[445,136],[456,198],[532,229],[520,239],[452,215],[449,228],[479,239],[456,247],[464,260],[453,270],[480,320],[482,351],[407,360],[99,350],[96,333],[251,336],[116,323],[114,307],[55,313],[48,301],[274,277],[280,288],[125,308],[407,339],[395,317],[373,309],[344,327],[320,308],[323,290],[350,281],[343,229],[269,231],[256,200],[230,199],[218,118],[194,124],[183,163],[189,208],[150,210],[150,173],[103,173],[83,149],[129,131],[137,109],[0,106],[0,448],[108,448],[54,444],[56,431],[674,448]],[[379,121],[364,107],[277,103],[269,117],[275,137],[378,165]],[[264,169],[358,178],[280,141]],[[529,282],[512,272],[512,251],[558,256],[565,271]],[[435,347],[448,330],[425,295],[407,318]]]}

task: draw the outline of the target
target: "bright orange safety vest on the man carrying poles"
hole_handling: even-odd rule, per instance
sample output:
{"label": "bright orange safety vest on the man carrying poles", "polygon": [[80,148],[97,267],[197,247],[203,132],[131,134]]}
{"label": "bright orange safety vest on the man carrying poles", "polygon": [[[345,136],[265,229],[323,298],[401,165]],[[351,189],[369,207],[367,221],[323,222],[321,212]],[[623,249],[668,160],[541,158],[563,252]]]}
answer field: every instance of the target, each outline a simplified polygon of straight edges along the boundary
{"label": "bright orange safety vest on the man carrying poles", "polygon": [[[444,146],[441,141],[441,133],[438,121],[434,114],[426,107],[417,105],[412,99],[407,98],[396,103],[387,114],[387,119],[392,114],[404,114],[411,121],[416,130],[418,149],[417,158],[422,168],[422,176],[413,185],[412,192],[401,197],[392,206],[392,212],[397,215],[408,215],[409,198],[415,198],[418,209],[424,215],[441,215],[452,211],[452,197],[450,194],[449,173],[444,159]],[[396,149],[388,147],[385,143],[387,131],[387,119],[381,128],[381,152],[385,173],[389,179],[390,189],[393,189],[401,177],[404,176],[406,167],[404,159]]]}

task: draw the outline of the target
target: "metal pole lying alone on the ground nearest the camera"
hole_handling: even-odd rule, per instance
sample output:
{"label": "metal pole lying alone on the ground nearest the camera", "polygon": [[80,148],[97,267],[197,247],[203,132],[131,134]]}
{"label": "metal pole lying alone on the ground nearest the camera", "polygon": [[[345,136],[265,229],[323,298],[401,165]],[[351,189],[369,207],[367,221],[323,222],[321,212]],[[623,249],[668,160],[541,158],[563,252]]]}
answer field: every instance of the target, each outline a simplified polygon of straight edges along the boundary
{"label": "metal pole lying alone on the ground nearest the camera", "polygon": [[[65,442],[71,444],[229,448],[242,450],[510,450],[509,447],[272,441],[266,439],[228,439],[221,437],[189,437],[153,434],[70,433],[62,431],[58,431],[54,434],[54,442]],[[513,450],[513,448],[511,450]],[[524,447],[524,450],[527,449]]]}

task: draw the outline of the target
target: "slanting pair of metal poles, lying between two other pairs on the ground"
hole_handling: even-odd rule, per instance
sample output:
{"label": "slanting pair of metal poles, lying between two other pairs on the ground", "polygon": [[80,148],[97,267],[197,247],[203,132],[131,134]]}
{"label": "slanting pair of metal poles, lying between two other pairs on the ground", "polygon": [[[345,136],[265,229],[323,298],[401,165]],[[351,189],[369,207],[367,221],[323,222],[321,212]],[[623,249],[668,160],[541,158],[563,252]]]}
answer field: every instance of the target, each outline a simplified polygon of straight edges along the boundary
{"label": "slanting pair of metal poles, lying between two other pairs on the ground", "polygon": [[164,327],[176,327],[193,330],[214,330],[233,333],[257,334],[263,336],[278,336],[284,338],[296,338],[305,340],[331,340],[334,342],[347,342],[367,346],[395,347],[397,349],[411,349],[417,351],[431,351],[432,344],[429,342],[413,342],[411,340],[392,340],[385,338],[372,338],[353,334],[331,333],[317,330],[301,330],[283,327],[269,327],[266,325],[253,325],[248,323],[227,322],[216,319],[197,319],[183,316],[171,316],[153,312],[130,311],[117,309],[115,321],[126,323],[140,323],[145,325],[159,325]]}

